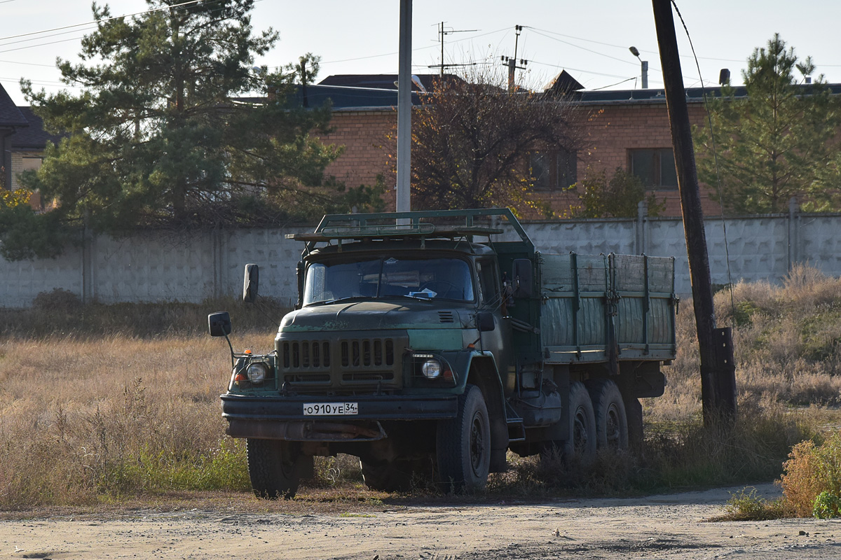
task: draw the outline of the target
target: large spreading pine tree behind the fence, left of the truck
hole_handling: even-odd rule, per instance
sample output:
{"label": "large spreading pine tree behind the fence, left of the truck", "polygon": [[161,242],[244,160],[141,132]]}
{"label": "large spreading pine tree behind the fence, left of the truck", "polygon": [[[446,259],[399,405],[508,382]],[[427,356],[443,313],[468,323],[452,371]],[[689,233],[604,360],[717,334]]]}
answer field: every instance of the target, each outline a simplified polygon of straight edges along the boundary
{"label": "large spreading pine tree behind the fence, left of the truck", "polygon": [[[321,181],[341,150],[310,136],[327,129],[330,109],[287,101],[318,58],[254,67],[278,34],[252,33],[253,3],[147,0],[135,18],[93,4],[98,27],[82,39],[81,60],[58,61],[62,81],[82,92],[34,92],[22,81],[45,128],[62,135],[23,178],[55,209],[23,219],[0,208],[3,254],[58,254],[82,224],[121,233],[265,222],[332,202],[336,189]],[[259,97],[238,97],[246,92]],[[27,232],[41,242],[27,246]]]}

